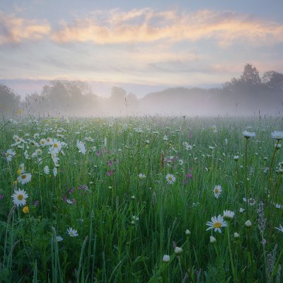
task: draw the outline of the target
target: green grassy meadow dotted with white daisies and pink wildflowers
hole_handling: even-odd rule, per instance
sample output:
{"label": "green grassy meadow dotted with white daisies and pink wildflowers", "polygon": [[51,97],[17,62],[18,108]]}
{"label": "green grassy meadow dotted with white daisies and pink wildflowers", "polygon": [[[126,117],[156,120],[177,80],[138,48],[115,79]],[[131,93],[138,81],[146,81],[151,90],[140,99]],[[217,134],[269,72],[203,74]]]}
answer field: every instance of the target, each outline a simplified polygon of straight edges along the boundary
{"label": "green grassy meadow dotted with white daisies and pink wildflowers", "polygon": [[0,282],[283,282],[282,129],[3,119]]}

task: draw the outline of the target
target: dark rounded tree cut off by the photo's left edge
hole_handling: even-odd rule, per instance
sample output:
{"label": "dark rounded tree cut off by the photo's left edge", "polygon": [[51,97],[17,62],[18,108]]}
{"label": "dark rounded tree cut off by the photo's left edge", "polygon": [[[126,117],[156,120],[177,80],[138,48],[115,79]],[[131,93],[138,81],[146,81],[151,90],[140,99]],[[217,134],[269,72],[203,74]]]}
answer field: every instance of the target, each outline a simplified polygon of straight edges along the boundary
{"label": "dark rounded tree cut off by the photo's left edge", "polygon": [[11,88],[0,83],[0,110],[10,111],[20,107],[20,96],[17,96]]}

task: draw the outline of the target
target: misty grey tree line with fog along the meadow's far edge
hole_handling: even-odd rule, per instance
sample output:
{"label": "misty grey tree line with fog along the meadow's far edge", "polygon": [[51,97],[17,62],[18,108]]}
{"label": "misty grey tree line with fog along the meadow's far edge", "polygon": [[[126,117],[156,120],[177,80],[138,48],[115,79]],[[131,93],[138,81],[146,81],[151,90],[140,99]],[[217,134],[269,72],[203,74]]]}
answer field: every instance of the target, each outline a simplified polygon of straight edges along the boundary
{"label": "misty grey tree line with fog along the meadow's far edge", "polygon": [[40,93],[21,100],[0,84],[0,112],[11,115],[278,115],[283,112],[283,74],[259,71],[246,64],[243,74],[221,88],[168,88],[137,99],[113,86],[110,98],[100,98],[82,81],[50,81]]}

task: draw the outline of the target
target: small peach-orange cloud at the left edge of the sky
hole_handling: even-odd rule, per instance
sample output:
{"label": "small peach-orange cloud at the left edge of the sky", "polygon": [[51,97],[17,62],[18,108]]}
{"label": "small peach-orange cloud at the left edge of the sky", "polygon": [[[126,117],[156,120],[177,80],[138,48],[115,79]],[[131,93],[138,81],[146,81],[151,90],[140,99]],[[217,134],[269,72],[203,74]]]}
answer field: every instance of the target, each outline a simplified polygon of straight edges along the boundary
{"label": "small peach-orange cloud at the left edge of the sky", "polygon": [[0,11],[0,44],[18,43],[23,40],[40,40],[50,34],[50,24],[17,18]]}

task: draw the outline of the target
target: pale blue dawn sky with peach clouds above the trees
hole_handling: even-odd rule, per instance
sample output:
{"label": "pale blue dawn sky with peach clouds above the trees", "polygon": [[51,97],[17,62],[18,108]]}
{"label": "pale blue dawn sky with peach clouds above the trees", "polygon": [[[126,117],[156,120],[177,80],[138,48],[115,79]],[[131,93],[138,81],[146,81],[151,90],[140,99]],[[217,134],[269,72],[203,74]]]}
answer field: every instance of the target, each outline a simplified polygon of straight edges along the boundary
{"label": "pale blue dawn sky with peach clouds above the trees", "polygon": [[245,64],[283,72],[282,0],[1,0],[0,83],[24,96],[54,79],[109,96],[213,87]]}

